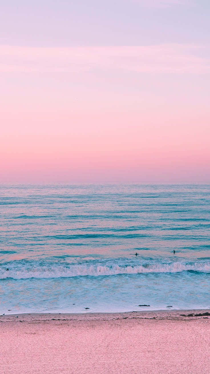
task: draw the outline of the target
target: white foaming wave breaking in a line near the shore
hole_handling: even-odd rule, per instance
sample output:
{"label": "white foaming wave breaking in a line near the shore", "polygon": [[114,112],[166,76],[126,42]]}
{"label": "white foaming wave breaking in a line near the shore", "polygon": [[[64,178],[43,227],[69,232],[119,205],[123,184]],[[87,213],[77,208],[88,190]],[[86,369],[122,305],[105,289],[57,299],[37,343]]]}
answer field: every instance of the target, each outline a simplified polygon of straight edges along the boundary
{"label": "white foaming wave breaking in a line near the shore", "polygon": [[120,274],[141,274],[141,273],[178,273],[183,271],[210,272],[210,262],[184,264],[174,263],[152,263],[138,266],[120,265],[70,265],[70,266],[37,266],[21,269],[0,269],[0,279],[29,279],[29,278],[70,278],[76,276],[109,276]]}

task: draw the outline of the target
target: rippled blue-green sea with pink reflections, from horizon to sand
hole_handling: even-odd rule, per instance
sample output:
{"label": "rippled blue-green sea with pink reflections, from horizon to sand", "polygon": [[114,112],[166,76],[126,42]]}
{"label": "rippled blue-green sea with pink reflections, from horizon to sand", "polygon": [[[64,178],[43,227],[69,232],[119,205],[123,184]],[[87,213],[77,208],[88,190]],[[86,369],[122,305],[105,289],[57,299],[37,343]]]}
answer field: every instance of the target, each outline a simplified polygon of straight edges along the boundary
{"label": "rippled blue-green sea with pink reflections, from horizon to sand", "polygon": [[0,186],[0,314],[188,308],[210,308],[210,186]]}

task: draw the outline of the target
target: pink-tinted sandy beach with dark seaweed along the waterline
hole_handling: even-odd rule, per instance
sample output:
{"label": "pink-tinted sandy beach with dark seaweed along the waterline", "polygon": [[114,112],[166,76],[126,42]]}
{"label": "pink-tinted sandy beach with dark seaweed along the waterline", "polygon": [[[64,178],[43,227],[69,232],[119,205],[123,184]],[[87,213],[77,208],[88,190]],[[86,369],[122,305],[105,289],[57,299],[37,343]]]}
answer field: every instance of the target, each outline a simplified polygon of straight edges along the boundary
{"label": "pink-tinted sandy beach with dark seaweed along the waterline", "polygon": [[209,373],[208,313],[3,315],[0,373]]}

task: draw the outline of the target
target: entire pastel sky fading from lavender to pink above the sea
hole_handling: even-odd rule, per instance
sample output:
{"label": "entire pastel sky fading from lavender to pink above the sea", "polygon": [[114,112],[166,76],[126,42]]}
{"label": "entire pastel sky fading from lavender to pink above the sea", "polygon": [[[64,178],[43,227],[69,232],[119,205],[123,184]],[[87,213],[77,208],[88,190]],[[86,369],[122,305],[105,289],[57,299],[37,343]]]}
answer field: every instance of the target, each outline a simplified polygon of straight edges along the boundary
{"label": "entire pastel sky fading from lavender to pink above the sea", "polygon": [[7,0],[0,183],[210,183],[209,0]]}

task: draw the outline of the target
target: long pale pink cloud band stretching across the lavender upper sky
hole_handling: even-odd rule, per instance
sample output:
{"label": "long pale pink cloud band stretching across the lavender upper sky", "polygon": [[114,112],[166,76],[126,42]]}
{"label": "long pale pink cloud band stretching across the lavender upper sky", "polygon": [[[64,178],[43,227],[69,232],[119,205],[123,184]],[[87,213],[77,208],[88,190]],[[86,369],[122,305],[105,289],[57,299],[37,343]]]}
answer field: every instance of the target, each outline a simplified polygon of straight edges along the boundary
{"label": "long pale pink cloud band stretching across the lavender upper sky", "polygon": [[[209,73],[205,47],[184,44],[103,47],[0,47],[0,72]],[[206,48],[207,49],[207,48]]]}

